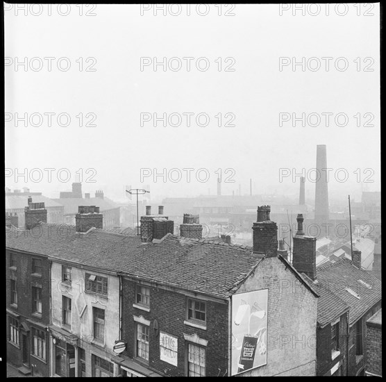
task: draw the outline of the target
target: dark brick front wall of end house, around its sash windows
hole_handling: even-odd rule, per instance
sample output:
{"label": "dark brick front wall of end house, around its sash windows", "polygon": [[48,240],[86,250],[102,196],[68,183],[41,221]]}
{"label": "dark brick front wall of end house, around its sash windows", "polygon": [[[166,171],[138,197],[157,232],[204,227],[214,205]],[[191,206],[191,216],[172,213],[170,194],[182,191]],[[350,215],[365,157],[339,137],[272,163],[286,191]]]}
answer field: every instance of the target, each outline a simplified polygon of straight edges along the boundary
{"label": "dark brick front wall of end house, around its sash windows", "polygon": [[[206,302],[206,330],[184,324],[186,319],[185,294],[150,287],[150,312],[133,307],[135,303],[135,283],[126,279],[122,282],[122,338],[127,342],[124,355],[135,358],[136,327],[133,315],[142,316],[151,322],[149,331],[149,368],[169,376],[185,376],[187,335],[198,335],[208,340],[206,349],[206,375],[226,374],[228,369],[228,304]],[[153,330],[157,319],[159,331],[178,339],[178,363],[171,365],[160,360],[160,335]]]}

